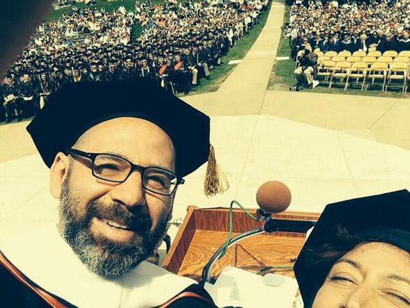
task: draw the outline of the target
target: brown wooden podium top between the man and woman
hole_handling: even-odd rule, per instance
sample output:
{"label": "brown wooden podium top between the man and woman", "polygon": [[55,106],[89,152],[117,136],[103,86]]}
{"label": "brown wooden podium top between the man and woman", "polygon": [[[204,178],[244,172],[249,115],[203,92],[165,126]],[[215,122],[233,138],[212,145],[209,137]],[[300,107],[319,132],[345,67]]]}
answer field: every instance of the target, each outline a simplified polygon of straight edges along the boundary
{"label": "brown wooden podium top between the man and woman", "polygon": [[[255,214],[256,209],[249,210]],[[319,213],[286,211],[272,216],[290,225],[290,229],[305,229],[316,222]],[[242,210],[233,209],[232,237],[263,226],[249,218]],[[307,227],[306,227],[307,226]],[[177,275],[199,281],[202,269],[212,254],[227,241],[229,231],[229,209],[198,209],[188,206],[183,224],[163,261],[163,268]],[[293,266],[306,237],[299,232],[274,232],[245,238],[229,248],[227,253],[216,262],[212,277],[218,277],[224,266],[236,266],[256,273],[267,266]],[[294,277],[293,270],[274,270],[274,273]]]}

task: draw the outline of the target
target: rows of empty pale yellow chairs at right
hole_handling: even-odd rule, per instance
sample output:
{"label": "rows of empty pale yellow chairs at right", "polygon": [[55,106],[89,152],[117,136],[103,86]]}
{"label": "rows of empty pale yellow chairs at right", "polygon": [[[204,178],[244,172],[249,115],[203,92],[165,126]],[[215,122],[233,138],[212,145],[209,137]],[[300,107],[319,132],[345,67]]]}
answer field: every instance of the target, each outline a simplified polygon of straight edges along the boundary
{"label": "rows of empty pale yellow chairs at right", "polygon": [[367,91],[369,86],[379,86],[382,92],[388,88],[400,88],[402,93],[406,93],[410,82],[409,72],[408,63],[402,62],[375,62],[368,67],[368,63],[363,61],[351,63],[324,60],[318,66],[317,76],[320,83],[329,83],[329,88],[336,84],[344,85],[347,90],[356,85]]}

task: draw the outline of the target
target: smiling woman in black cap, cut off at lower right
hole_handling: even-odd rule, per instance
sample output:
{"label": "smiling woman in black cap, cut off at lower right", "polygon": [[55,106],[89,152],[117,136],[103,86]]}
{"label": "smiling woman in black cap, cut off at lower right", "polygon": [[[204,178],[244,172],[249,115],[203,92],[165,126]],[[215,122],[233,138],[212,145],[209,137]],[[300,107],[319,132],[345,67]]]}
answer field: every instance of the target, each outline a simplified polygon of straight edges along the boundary
{"label": "smiling woman in black cap, cut off at lower right", "polygon": [[329,204],[295,264],[307,308],[410,307],[410,193]]}

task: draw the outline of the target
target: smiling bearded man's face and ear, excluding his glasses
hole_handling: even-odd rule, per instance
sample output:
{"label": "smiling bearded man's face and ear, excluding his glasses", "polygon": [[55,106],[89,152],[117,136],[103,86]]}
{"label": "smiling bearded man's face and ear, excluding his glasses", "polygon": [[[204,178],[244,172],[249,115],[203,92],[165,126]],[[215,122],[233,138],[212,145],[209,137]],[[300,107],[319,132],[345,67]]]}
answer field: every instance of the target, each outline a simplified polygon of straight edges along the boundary
{"label": "smiling bearded man's face and ear, excluding his glasses", "polygon": [[[155,124],[134,117],[97,124],[73,148],[175,172],[170,138]],[[57,172],[61,164],[64,172]],[[122,277],[149,257],[161,240],[174,194],[146,191],[137,170],[115,183],[97,179],[91,168],[91,161],[81,156],[56,156],[51,192],[60,197],[60,233],[90,270],[108,279]]]}

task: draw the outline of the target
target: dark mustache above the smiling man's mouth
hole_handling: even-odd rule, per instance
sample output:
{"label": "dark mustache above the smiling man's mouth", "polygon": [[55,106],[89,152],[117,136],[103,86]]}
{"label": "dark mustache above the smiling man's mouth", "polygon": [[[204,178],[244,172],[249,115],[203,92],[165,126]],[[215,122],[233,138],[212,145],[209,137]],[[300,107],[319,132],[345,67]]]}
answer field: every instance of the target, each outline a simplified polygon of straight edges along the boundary
{"label": "dark mustache above the smiling man's mouth", "polygon": [[131,212],[129,209],[126,209],[126,206],[119,203],[107,206],[97,201],[90,202],[84,222],[89,225],[94,217],[101,221],[113,220],[121,225],[126,225],[128,229],[137,233],[149,232],[152,227],[152,220],[149,214],[142,211]]}

